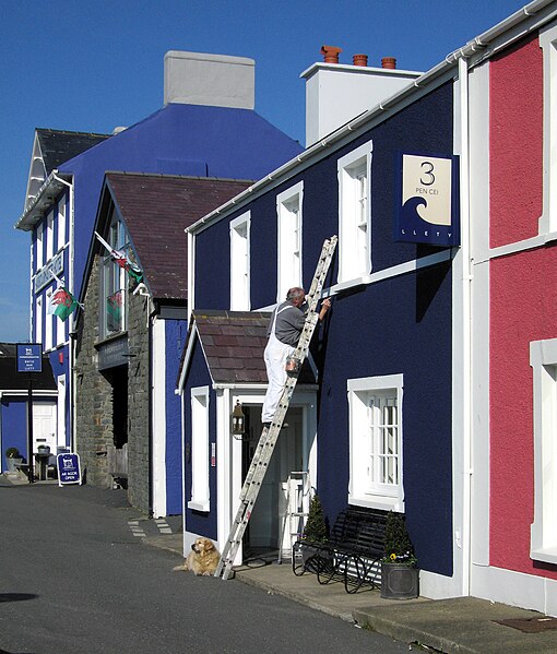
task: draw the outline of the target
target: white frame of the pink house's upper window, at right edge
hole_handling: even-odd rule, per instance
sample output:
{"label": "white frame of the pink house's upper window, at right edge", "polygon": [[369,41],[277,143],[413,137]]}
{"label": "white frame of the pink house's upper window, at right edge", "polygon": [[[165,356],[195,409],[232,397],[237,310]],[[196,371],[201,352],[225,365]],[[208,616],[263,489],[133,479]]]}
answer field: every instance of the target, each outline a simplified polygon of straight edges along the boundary
{"label": "white frame of the pink house's upper window, at right edge", "polygon": [[544,57],[544,213],[540,233],[557,231],[557,23],[540,31]]}

